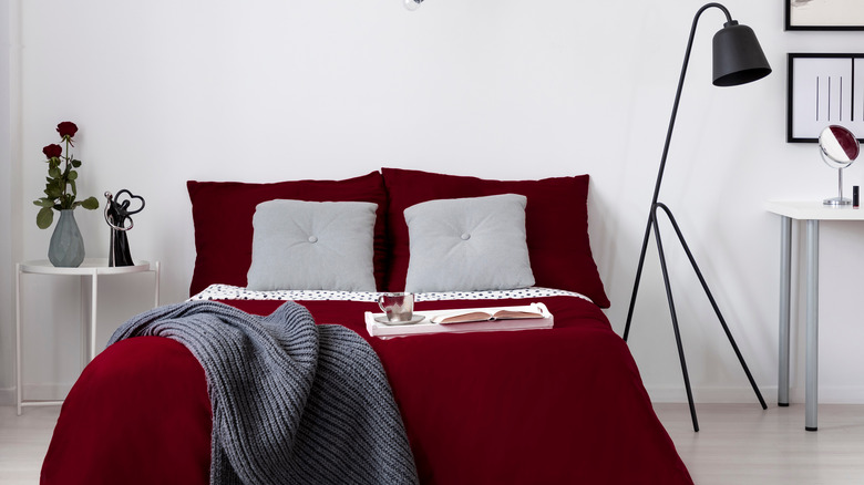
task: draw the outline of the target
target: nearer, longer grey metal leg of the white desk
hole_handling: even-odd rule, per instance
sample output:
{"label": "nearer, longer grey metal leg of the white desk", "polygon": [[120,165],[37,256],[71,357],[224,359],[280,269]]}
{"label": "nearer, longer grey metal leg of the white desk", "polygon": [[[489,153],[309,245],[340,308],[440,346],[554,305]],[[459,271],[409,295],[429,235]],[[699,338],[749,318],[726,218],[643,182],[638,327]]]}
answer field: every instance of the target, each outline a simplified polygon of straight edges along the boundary
{"label": "nearer, longer grey metal leg of the white desk", "polygon": [[816,431],[819,409],[819,220],[808,220],[806,400],[804,429]]}

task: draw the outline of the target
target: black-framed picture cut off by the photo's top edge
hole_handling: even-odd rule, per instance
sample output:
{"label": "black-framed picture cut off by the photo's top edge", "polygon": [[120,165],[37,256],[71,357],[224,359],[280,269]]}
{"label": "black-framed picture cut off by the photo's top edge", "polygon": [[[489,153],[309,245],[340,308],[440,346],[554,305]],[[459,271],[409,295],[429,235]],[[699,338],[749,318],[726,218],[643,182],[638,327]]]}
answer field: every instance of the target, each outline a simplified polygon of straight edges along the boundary
{"label": "black-framed picture cut off by the photo's top edge", "polygon": [[862,0],[783,0],[786,30],[864,30]]}

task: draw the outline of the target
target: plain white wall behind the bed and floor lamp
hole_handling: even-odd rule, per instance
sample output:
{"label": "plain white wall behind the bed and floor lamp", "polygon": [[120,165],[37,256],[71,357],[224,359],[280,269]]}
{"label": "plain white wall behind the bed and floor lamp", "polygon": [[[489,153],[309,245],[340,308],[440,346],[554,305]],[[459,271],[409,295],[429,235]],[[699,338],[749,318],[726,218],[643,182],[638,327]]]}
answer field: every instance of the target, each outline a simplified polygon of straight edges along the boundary
{"label": "plain white wall behind the bed and floor lamp", "polygon": [[[380,166],[491,178],[589,173],[592,244],[613,299],[607,314],[624,330],[685,44],[702,2],[428,0],[413,13],[400,0],[17,2],[21,118],[10,132],[21,132],[11,168],[21,190],[8,218],[20,228],[0,215],[14,229],[3,242],[18,248],[13,260],[47,252],[50,231],[33,224],[31,200],[43,184],[41,147],[64,120],[81,128],[82,194],[128,188],[146,198],[132,251],[163,262],[165,302],[186,297],[194,264],[189,178],[341,178]],[[814,145],[785,143],[785,53],[855,51],[861,33],[784,32],[781,1],[727,7],[757,31],[774,73],[713,87],[710,37],[724,19],[716,9],[702,17],[661,198],[774,401],[779,220],[762,203],[821,199],[836,185]],[[847,185],[864,185],[862,174],[861,165],[848,168]],[[76,217],[88,254],[105,255],[101,214]],[[820,396],[864,402],[864,353],[855,345],[864,341],[856,298],[864,227],[823,223],[822,236]],[[753,400],[671,234],[666,241],[697,400]],[[648,261],[630,348],[651,394],[680,401],[652,248]],[[130,288],[146,291],[138,282],[105,291],[123,299]],[[69,385],[81,347],[79,327],[65,322],[78,317],[76,286],[31,278],[25,291],[35,307],[28,382]],[[44,300],[65,312],[38,305]],[[101,338],[136,305],[106,308]],[[2,323],[0,336],[11,336],[11,322]],[[803,328],[793,330],[800,401]],[[0,389],[10,390],[7,349]]]}

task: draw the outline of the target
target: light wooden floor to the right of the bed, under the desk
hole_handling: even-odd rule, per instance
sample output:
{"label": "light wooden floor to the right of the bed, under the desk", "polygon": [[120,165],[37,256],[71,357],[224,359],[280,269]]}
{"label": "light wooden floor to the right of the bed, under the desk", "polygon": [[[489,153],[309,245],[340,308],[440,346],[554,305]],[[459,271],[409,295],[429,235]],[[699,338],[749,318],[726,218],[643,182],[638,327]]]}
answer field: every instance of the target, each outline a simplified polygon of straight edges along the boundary
{"label": "light wooden floor to the right of the bed, under the desk", "polygon": [[864,405],[821,404],[804,431],[804,404],[655,404],[699,485],[864,484]]}

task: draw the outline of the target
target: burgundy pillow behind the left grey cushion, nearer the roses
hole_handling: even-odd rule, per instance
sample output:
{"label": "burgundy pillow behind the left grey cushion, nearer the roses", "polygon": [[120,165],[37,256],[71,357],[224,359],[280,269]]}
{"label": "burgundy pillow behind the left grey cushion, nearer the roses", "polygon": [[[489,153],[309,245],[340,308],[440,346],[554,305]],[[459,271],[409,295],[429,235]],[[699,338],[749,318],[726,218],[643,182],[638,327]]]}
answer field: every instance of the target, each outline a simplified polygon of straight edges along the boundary
{"label": "burgundy pillow behind the left grey cushion, nearer the roses", "polygon": [[192,200],[197,252],[189,295],[212,283],[246,286],[246,274],[251,265],[251,219],[255,206],[277,198],[378,204],[373,262],[376,283],[383,288],[388,250],[384,233],[387,193],[378,172],[344,180],[274,184],[188,180],[186,188]]}

